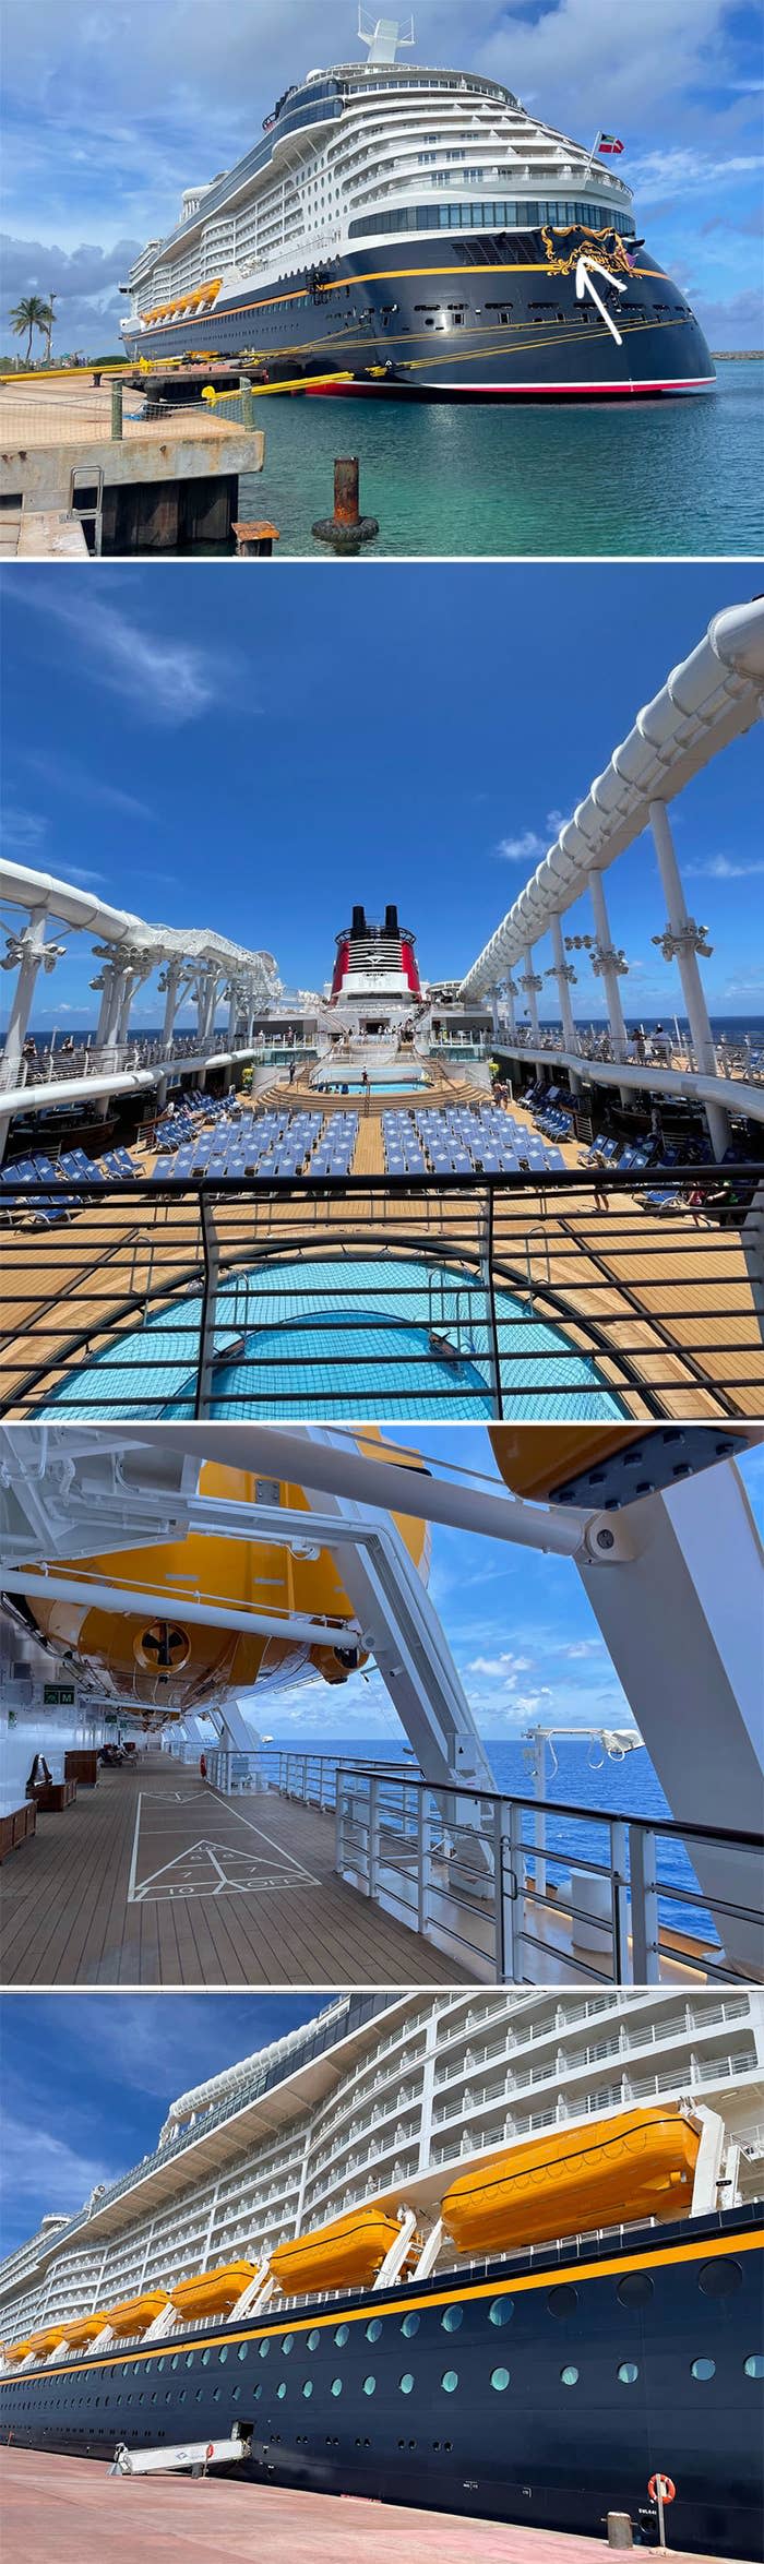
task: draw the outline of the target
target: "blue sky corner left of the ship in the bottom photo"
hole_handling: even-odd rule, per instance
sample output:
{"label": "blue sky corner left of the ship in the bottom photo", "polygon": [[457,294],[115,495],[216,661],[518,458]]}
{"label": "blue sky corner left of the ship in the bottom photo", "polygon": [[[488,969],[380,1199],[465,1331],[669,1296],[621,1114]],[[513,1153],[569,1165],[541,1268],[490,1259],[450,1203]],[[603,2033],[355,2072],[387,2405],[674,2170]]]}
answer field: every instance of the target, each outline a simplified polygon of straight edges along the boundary
{"label": "blue sky corner left of the ship in the bottom photo", "polygon": [[[0,2256],[151,2154],[169,2102],[313,2020],[320,1995],[5,1995]],[[51,2108],[51,2095],[56,2105]]]}

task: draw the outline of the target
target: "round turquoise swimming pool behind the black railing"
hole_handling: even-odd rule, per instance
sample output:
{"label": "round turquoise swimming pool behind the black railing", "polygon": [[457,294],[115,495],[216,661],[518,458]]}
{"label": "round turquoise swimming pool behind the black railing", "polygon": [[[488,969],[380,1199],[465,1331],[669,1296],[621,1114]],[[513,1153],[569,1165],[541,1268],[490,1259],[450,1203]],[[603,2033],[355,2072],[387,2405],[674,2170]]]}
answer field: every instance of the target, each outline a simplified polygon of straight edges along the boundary
{"label": "round turquoise swimming pool behind the black railing", "polygon": [[[495,1292],[495,1310],[505,1415],[600,1423],[623,1413],[561,1328],[510,1290]],[[69,1372],[38,1415],[192,1415],[200,1313],[195,1290],[146,1318]],[[220,1285],[210,1413],[477,1420],[495,1413],[492,1359],[487,1292],[464,1267],[285,1256]]]}

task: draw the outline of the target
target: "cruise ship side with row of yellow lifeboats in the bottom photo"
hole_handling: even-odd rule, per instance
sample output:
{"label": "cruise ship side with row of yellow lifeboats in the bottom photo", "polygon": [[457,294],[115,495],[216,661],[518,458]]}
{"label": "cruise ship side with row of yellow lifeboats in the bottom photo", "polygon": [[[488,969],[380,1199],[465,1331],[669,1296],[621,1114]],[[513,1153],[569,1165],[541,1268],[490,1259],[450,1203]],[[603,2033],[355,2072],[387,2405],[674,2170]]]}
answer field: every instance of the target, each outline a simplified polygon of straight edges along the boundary
{"label": "cruise ship side with row of yellow lifeboats in the bottom photo", "polygon": [[761,1992],[333,1997],[5,2259],[3,2431],[759,2559],[761,2149]]}

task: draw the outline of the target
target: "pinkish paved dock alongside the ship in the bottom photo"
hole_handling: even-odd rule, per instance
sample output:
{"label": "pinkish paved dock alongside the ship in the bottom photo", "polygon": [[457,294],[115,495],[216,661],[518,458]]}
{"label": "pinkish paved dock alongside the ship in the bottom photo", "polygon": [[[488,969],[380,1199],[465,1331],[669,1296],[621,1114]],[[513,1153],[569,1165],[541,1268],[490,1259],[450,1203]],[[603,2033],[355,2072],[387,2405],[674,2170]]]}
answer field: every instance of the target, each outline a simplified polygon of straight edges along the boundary
{"label": "pinkish paved dock alongside the ship in the bottom photo", "polygon": [[[602,2538],[508,2528],[356,2495],[238,2485],[215,2474],[108,2474],[87,2456],[0,2449],[3,2564],[595,2564]],[[659,2554],[641,2546],[641,2554]],[[674,2564],[690,2564],[672,2546]],[[695,2554],[692,2564],[715,2564]]]}

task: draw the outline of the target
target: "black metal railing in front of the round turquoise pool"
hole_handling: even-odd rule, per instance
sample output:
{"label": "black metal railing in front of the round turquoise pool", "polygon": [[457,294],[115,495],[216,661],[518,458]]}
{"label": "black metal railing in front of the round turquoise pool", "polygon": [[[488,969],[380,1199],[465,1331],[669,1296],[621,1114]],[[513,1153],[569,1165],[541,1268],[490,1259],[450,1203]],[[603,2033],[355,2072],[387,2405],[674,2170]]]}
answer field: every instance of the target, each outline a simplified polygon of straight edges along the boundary
{"label": "black metal railing in front of the round turquoise pool", "polygon": [[[572,1390],[582,1415],[608,1403],[605,1413],[638,1420],[741,1418],[761,1405],[764,1179],[754,1161],[641,1177],[541,1161],[423,1177],[285,1167],[282,1179],[149,1177],[138,1195],[115,1177],[13,1192],[5,1167],[3,1197],[3,1415],[36,1415],[46,1385],[69,1405],[74,1382],[87,1418],[113,1415],[115,1395],[126,1418],[162,1415],[169,1397],[220,1420],[231,1410],[315,1415],[315,1385],[326,1420],[359,1415],[359,1395],[372,1415],[444,1420],[567,1418]],[[526,1241],[538,1223],[549,1246],[528,1290]],[[449,1310],[436,1338],[433,1272],[446,1274]],[[361,1382],[349,1331],[320,1323],[344,1305],[364,1326]],[[131,1361],[123,1336],[138,1320]]]}

